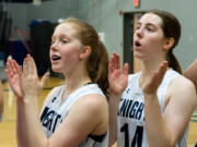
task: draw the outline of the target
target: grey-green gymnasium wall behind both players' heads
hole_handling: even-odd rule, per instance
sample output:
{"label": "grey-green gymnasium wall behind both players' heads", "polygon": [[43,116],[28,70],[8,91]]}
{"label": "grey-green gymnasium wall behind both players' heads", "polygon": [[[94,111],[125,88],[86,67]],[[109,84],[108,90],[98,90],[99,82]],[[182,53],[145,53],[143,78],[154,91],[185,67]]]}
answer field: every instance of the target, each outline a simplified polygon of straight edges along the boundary
{"label": "grey-green gymnasium wall behind both players' heads", "polygon": [[[105,45],[109,51],[123,56],[123,13],[162,9],[175,14],[182,23],[182,38],[175,54],[185,69],[197,58],[197,15],[196,0],[139,0],[135,8],[132,0],[51,0],[40,7],[33,4],[8,3],[12,12],[13,25],[28,30],[31,20],[49,20],[76,16],[91,23],[100,33],[104,33]],[[18,39],[15,33],[13,37]]]}

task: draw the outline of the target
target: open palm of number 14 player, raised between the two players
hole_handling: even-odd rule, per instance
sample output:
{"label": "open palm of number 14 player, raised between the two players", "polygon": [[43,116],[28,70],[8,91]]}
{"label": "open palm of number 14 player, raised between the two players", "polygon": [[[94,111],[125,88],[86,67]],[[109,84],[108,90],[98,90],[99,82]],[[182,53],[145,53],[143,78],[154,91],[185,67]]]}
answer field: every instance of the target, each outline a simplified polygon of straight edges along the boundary
{"label": "open palm of number 14 player, raised between the two players", "polygon": [[108,83],[114,95],[121,95],[128,83],[128,63],[124,65],[124,72],[120,70],[119,56],[113,53],[108,65]]}

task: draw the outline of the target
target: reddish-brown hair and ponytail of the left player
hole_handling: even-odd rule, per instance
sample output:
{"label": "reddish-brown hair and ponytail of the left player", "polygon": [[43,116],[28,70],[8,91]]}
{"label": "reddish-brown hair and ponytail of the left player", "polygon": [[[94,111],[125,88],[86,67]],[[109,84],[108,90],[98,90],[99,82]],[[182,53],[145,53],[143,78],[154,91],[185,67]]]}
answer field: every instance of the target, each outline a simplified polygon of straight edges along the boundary
{"label": "reddish-brown hair and ponytail of the left player", "polygon": [[91,54],[86,61],[86,70],[93,83],[96,83],[108,96],[108,62],[109,57],[105,45],[93,26],[78,19],[67,19],[63,23],[72,23],[77,28],[77,37],[84,46],[91,47]]}

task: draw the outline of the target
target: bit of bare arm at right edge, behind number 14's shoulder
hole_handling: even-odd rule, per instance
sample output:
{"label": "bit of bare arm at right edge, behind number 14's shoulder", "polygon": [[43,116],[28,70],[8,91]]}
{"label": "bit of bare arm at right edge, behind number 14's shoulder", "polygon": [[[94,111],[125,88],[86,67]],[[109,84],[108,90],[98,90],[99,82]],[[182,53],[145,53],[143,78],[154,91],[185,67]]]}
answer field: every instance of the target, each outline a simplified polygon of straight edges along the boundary
{"label": "bit of bare arm at right edge, behind number 14's shoulder", "polygon": [[197,90],[197,60],[195,60],[183,74],[195,84]]}

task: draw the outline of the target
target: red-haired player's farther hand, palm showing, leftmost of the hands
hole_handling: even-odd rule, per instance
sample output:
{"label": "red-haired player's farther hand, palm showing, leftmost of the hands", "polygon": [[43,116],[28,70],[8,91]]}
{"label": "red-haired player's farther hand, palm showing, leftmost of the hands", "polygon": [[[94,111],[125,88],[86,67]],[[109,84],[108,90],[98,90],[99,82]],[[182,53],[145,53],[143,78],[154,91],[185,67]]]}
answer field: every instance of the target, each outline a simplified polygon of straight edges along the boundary
{"label": "red-haired player's farther hand, palm showing, leftmost of the hands", "polygon": [[15,60],[8,59],[4,70],[10,87],[18,98],[23,98],[21,91],[21,68]]}

